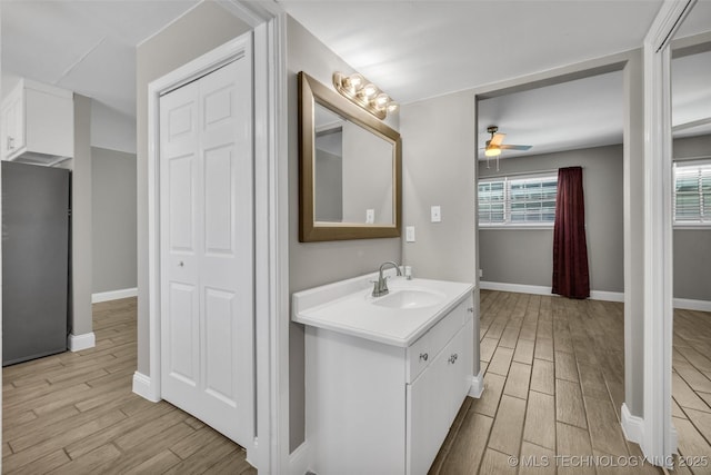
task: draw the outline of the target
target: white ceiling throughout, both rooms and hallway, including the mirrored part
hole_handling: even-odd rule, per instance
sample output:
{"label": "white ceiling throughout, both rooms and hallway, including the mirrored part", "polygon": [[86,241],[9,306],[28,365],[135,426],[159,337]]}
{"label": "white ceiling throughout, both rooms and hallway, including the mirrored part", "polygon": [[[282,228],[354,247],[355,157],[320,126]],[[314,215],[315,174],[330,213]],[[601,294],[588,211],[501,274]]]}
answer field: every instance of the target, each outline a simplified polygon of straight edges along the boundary
{"label": "white ceiling throughout, both rooms and hallway, including the mirrored part", "polygon": [[[639,48],[661,1],[277,0],[401,103]],[[3,0],[3,71],[134,116],[136,46],[196,3]],[[699,0],[682,30],[711,30],[711,0]],[[674,92],[675,122],[710,110],[711,61],[688,58],[674,76],[687,81]],[[480,140],[498,125],[508,144],[532,145],[529,154],[620,142],[621,98],[618,72],[489,99],[480,103]],[[705,112],[694,111],[699,105]]]}

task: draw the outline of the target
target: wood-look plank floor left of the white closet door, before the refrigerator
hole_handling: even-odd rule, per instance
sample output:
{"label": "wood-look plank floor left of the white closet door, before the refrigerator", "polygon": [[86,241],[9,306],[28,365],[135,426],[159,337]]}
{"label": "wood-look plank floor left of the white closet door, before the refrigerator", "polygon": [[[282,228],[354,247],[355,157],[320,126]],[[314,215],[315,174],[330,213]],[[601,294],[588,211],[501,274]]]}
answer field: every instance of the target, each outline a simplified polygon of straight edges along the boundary
{"label": "wood-look plank floor left of the white closet door, before the refrigerator", "polygon": [[244,451],[131,393],[136,298],[93,306],[97,346],[3,368],[2,473],[256,474]]}

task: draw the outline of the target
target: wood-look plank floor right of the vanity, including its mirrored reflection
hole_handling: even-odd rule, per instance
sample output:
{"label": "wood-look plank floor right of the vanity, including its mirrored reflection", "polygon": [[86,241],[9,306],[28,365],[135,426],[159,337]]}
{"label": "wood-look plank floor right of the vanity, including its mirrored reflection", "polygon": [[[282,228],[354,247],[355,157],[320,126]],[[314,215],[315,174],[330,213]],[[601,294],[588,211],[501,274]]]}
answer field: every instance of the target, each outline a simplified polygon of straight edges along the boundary
{"label": "wood-look plank floor right of the vanity, including its mirrored reflection", "polygon": [[[623,327],[622,304],[482,291],[485,389],[462,405],[430,474],[661,474],[611,466],[642,455],[619,423]],[[711,465],[711,314],[675,311],[673,369],[679,451]]]}

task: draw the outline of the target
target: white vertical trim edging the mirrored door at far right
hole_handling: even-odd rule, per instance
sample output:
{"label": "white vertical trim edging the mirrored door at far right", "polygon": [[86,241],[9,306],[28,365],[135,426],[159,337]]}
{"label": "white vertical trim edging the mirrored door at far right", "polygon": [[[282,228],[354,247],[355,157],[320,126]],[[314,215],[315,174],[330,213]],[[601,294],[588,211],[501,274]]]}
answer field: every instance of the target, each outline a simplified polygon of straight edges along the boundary
{"label": "white vertical trim edging the mirrored door at far right", "polygon": [[639,441],[654,464],[673,466],[671,416],[673,236],[671,39],[697,0],[665,0],[643,42],[644,62],[644,419]]}

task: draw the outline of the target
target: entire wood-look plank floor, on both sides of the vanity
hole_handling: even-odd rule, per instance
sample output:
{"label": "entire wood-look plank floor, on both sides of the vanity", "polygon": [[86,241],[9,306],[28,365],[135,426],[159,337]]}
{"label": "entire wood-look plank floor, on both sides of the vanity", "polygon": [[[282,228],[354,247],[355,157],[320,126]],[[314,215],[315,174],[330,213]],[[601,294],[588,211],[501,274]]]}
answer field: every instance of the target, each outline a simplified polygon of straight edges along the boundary
{"label": "entire wood-look plank floor, on both sides of the vanity", "polygon": [[[96,348],[3,368],[3,473],[254,474],[238,445],[131,393],[136,299],[93,308]],[[615,303],[482,291],[485,390],[467,398],[430,473],[661,474],[588,458],[619,465],[620,456],[641,456],[619,425],[622,311]],[[711,458],[711,314],[674,318],[680,452]],[[520,466],[510,466],[512,456]]]}

